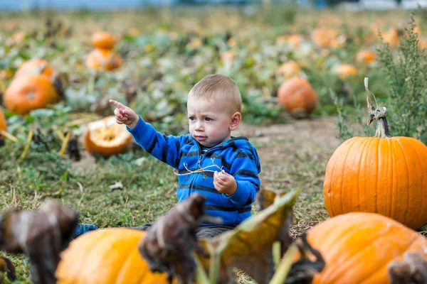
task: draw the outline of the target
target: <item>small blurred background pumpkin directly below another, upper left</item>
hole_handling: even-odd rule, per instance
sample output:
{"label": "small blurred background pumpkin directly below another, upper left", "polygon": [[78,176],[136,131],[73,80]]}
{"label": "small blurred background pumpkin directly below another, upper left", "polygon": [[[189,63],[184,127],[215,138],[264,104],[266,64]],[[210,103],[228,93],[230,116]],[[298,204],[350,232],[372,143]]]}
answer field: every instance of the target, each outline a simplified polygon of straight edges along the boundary
{"label": "small blurred background pumpkin directly below another, upper left", "polygon": [[86,56],[86,66],[94,70],[114,70],[122,66],[119,54],[107,49],[94,49]]}

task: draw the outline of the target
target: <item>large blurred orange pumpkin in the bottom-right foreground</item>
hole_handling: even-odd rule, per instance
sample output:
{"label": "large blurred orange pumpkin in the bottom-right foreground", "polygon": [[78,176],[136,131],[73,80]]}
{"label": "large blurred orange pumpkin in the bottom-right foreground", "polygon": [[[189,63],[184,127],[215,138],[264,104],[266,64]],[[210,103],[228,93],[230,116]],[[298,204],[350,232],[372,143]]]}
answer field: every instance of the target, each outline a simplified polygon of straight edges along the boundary
{"label": "large blurred orange pumpkin in the bottom-right foreground", "polygon": [[326,262],[313,284],[385,284],[388,264],[406,251],[427,257],[426,237],[374,213],[348,213],[317,224],[307,231],[307,241]]}

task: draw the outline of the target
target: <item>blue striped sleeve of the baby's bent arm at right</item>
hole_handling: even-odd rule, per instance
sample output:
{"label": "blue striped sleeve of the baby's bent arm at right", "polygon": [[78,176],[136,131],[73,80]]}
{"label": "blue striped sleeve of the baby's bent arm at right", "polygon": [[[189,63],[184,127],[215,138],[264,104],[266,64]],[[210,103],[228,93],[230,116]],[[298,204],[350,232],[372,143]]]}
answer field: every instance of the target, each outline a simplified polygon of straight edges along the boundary
{"label": "blue striped sleeve of the baby's bent arm at right", "polygon": [[260,179],[258,178],[258,166],[255,163],[255,157],[250,151],[241,151],[231,163],[230,174],[233,175],[237,183],[236,192],[227,196],[236,205],[246,206],[255,201],[255,196],[260,188]]}

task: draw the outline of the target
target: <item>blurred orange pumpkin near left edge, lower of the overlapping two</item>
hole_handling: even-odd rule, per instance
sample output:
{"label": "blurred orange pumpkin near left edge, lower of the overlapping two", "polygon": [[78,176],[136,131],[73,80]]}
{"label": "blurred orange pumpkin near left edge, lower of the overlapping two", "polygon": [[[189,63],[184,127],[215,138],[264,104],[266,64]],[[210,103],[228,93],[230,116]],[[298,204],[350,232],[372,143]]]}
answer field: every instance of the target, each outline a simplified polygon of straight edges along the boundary
{"label": "blurred orange pumpkin near left edge, lower of the overlapping two", "polygon": [[28,114],[60,100],[58,92],[46,75],[15,77],[4,92],[4,106],[17,114]]}

